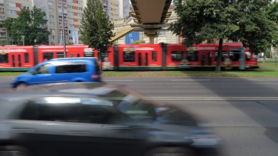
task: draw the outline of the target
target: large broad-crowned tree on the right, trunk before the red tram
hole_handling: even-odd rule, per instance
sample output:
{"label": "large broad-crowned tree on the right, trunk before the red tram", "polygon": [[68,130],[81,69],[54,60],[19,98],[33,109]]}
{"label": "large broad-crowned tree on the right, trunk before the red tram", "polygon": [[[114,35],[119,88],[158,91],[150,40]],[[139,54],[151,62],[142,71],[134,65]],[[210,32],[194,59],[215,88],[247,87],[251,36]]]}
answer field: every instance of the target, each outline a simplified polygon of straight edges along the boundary
{"label": "large broad-crowned tree on the right, trunk before the red tram", "polygon": [[183,44],[192,46],[203,41],[219,41],[216,69],[220,72],[223,39],[241,41],[253,53],[271,42],[274,31],[271,21],[262,17],[271,1],[257,0],[174,0],[177,21],[169,30],[183,37]]}

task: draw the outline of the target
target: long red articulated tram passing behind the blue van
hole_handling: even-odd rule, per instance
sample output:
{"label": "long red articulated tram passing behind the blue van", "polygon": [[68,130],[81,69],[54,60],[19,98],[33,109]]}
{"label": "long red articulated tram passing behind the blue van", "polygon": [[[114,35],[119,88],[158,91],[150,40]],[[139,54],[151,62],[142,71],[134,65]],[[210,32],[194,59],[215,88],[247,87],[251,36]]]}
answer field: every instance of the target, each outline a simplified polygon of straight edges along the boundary
{"label": "long red articulated tram passing behind the blue van", "polygon": [[[176,70],[213,69],[216,66],[218,44],[186,47],[180,44],[120,44],[102,54],[104,70]],[[1,46],[0,71],[26,71],[45,60],[63,58],[60,45]],[[87,45],[67,45],[66,57],[98,57],[96,49]],[[257,61],[240,43],[224,43],[221,67],[225,69],[256,69]]]}

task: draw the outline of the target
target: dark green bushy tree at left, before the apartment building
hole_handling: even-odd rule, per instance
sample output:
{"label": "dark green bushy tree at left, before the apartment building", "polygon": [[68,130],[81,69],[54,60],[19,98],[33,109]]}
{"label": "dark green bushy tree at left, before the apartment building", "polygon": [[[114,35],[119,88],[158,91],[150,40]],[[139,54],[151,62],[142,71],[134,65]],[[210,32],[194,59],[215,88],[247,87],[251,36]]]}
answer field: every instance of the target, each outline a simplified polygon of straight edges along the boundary
{"label": "dark green bushy tree at left, before the apartment building", "polygon": [[[8,18],[4,21],[3,26],[7,28],[11,39],[18,44],[22,44],[21,36],[25,36],[25,45],[47,44],[48,36],[51,33],[43,28],[48,22],[48,20],[43,19],[45,15],[35,6],[32,10],[24,7],[21,9],[18,18]],[[36,43],[34,42],[35,39]]]}

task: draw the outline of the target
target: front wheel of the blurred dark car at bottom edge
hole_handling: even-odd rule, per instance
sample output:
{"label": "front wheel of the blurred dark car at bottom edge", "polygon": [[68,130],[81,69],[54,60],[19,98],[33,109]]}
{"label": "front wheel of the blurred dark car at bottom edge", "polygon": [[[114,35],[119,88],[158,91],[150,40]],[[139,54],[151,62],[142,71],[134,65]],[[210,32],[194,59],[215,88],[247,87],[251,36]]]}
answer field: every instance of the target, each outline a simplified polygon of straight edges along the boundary
{"label": "front wheel of the blurred dark car at bottom edge", "polygon": [[143,156],[193,156],[190,149],[182,147],[159,147],[148,150]]}

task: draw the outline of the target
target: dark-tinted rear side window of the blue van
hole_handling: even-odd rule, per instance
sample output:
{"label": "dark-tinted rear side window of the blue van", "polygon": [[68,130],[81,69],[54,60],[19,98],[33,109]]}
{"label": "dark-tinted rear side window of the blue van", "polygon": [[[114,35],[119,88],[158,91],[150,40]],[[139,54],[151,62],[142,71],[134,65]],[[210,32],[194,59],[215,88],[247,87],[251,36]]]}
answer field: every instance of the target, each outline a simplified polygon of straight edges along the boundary
{"label": "dark-tinted rear side window of the blue van", "polygon": [[86,72],[86,63],[77,62],[77,63],[65,63],[62,65],[57,65],[55,73],[84,73]]}

